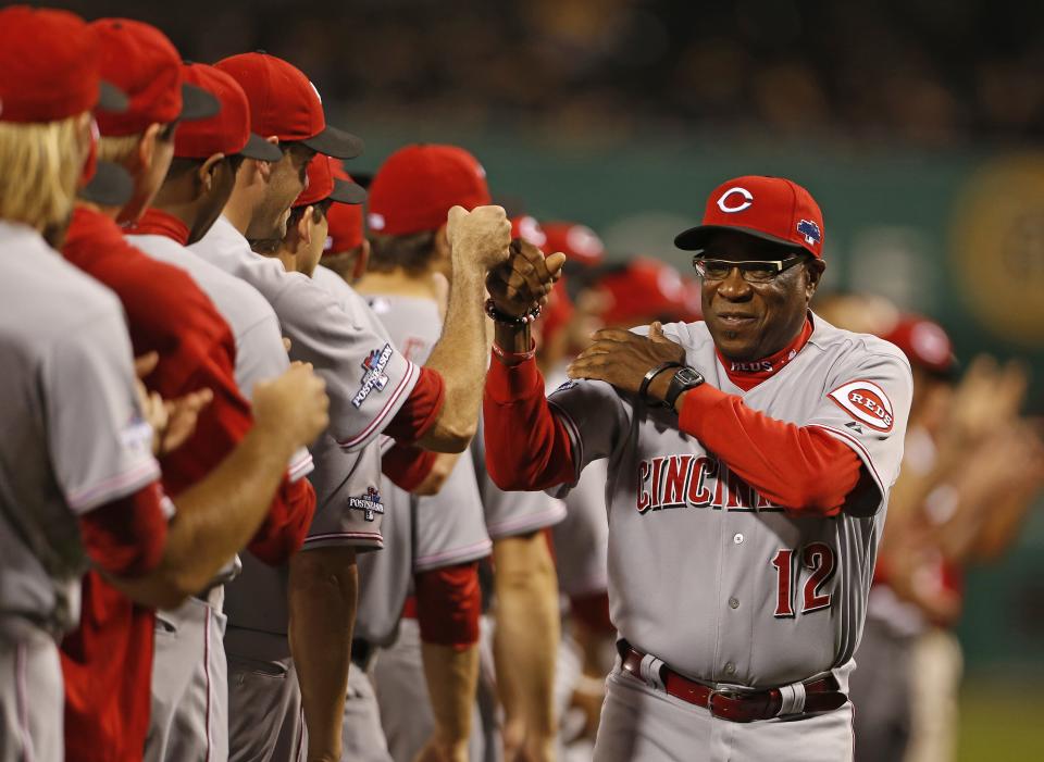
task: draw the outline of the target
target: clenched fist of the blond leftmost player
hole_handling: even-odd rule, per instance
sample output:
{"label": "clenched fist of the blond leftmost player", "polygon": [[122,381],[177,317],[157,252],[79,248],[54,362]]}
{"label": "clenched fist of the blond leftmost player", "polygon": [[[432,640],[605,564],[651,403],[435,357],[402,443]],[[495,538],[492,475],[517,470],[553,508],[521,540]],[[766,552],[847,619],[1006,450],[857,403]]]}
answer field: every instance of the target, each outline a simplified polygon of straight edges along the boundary
{"label": "clenched fist of the blond leftmost player", "polygon": [[286,373],[253,387],[254,425],[287,438],[297,447],[311,445],[330,424],[326,383],[311,363],[294,363]]}

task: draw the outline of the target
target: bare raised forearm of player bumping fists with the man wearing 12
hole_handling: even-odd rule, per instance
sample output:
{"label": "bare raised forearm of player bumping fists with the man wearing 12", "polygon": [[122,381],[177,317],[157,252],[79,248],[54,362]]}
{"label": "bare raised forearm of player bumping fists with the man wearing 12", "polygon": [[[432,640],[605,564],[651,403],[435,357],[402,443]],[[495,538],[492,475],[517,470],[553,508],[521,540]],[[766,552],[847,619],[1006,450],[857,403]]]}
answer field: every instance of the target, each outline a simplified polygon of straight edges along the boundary
{"label": "bare raised forearm of player bumping fists with the man wearing 12", "polygon": [[489,351],[484,282],[473,266],[458,264],[460,259],[453,263],[443,335],[424,364],[443,377],[446,397],[434,425],[419,444],[438,452],[462,452],[475,435]]}

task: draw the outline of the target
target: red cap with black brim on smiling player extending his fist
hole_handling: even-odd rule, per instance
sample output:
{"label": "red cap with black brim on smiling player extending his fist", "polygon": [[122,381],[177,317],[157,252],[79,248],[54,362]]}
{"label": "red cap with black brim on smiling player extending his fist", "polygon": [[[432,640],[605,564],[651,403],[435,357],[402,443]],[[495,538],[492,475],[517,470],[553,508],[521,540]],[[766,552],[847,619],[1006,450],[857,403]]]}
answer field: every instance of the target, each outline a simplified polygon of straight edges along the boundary
{"label": "red cap with black brim on smiling player extending his fist", "polygon": [[362,140],[326,124],[319,90],[301,70],[263,52],[240,53],[214,64],[239,83],[250,101],[253,132],[281,142],[302,142],[316,153],[355,159]]}

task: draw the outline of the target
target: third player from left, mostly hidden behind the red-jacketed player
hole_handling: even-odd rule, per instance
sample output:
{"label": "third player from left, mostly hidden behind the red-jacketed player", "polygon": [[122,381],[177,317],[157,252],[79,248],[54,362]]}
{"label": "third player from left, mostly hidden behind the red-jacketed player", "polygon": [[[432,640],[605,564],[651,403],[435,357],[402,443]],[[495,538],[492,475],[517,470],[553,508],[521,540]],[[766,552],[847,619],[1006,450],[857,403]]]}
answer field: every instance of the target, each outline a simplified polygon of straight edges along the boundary
{"label": "third player from left, mostly hidden behind the red-jacketed player", "polygon": [[[259,382],[289,366],[271,305],[256,289],[210,264],[188,248],[213,224],[232,193],[235,173],[245,159],[277,161],[278,149],[250,132],[247,97],[227,74],[204,64],[184,64],[184,79],[214,96],[221,111],[207,120],[178,125],[174,161],[152,205],[130,229],[127,241],[152,259],[187,272],[232,328],[235,380],[250,399]],[[290,501],[314,504],[314,490],[303,477],[311,455],[301,449],[287,466],[284,489]],[[254,541],[249,551],[279,564],[303,539],[309,511],[293,511],[287,525]],[[275,527],[273,527],[275,529]],[[207,592],[176,611],[157,617],[152,665],[152,708],[146,760],[224,760],[228,757],[227,664],[222,640],[224,586],[238,560],[223,570]]]}

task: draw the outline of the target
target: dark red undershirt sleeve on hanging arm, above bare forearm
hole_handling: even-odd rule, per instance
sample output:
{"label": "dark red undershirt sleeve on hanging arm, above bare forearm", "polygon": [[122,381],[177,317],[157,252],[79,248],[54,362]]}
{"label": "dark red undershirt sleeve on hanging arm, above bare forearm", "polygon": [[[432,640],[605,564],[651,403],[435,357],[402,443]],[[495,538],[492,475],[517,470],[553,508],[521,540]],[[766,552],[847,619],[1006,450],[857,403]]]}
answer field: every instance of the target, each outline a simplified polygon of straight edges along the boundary
{"label": "dark red undershirt sleeve on hanging arm, above bare forearm", "polygon": [[459,651],[478,642],[482,591],[477,561],[418,572],[413,587],[422,641]]}

